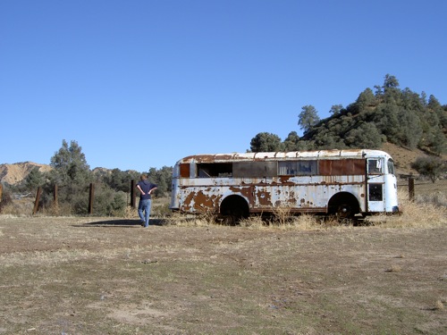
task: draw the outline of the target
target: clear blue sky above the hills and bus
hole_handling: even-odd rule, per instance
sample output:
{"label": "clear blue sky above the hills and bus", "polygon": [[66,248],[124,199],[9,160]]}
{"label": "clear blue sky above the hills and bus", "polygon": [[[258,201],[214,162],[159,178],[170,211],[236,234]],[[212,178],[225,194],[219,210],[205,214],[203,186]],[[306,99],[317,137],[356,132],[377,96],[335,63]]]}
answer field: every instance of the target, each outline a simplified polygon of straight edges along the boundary
{"label": "clear blue sky above the hills and bus", "polygon": [[2,0],[0,163],[93,169],[284,139],[395,76],[447,104],[447,1]]}

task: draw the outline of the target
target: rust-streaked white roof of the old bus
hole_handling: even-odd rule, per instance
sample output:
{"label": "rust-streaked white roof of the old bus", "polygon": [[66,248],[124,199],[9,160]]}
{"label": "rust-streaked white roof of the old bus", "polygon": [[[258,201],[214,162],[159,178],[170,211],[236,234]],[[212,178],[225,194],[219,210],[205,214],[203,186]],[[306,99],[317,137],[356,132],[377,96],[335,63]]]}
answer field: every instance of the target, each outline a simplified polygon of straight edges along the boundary
{"label": "rust-streaked white roof of the old bus", "polygon": [[197,163],[214,163],[214,162],[232,162],[232,161],[274,161],[274,160],[292,160],[306,158],[360,158],[360,157],[380,157],[385,156],[391,158],[391,155],[381,150],[370,149],[346,149],[346,150],[318,150],[318,151],[277,151],[262,153],[232,153],[232,154],[204,154],[189,155],[182,158],[177,163],[197,162]]}

